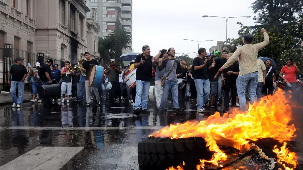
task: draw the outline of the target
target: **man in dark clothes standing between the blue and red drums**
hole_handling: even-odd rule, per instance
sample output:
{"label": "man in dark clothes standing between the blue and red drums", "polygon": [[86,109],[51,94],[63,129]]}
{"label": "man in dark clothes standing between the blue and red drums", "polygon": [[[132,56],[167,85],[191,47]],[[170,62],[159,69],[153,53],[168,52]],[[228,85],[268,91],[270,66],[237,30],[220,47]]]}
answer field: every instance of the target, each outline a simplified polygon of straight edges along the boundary
{"label": "man in dark clothes standing between the blue and red drums", "polygon": [[116,60],[111,59],[111,65],[107,66],[107,70],[104,72],[104,74],[107,75],[108,81],[112,84],[112,88],[109,91],[109,102],[114,102],[114,98],[119,98],[119,102],[122,102],[119,84],[119,74],[121,74],[122,72],[121,69],[115,64]]}

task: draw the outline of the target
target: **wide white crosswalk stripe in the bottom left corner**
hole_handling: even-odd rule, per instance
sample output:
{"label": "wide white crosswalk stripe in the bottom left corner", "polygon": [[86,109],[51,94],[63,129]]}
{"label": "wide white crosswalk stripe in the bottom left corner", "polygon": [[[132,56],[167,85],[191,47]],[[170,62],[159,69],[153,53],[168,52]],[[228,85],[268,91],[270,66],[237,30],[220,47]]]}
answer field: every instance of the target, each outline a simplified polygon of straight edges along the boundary
{"label": "wide white crosswalk stripe in the bottom left corner", "polygon": [[0,167],[0,170],[58,170],[84,147],[37,147]]}

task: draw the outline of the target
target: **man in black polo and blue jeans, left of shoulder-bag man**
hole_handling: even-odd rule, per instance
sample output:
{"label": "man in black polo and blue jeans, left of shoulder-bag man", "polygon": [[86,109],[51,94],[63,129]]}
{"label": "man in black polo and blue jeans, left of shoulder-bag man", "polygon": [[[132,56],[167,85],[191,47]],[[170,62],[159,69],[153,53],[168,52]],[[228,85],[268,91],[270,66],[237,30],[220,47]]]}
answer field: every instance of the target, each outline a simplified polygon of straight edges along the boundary
{"label": "man in black polo and blue jeans, left of shoulder-bag man", "polygon": [[152,65],[155,59],[150,55],[151,49],[148,45],[142,47],[142,54],[136,56],[135,68],[136,71],[136,84],[137,84],[137,94],[135,109],[136,113],[140,113],[140,104],[142,103],[142,113],[149,114],[150,111],[147,110],[148,102],[148,92],[151,85],[151,71]]}

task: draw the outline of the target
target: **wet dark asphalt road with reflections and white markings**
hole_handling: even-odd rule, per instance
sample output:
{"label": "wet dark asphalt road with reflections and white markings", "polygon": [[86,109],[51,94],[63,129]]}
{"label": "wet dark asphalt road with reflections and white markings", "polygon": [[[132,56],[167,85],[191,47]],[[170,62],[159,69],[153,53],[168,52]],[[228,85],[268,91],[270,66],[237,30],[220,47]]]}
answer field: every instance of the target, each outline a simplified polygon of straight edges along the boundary
{"label": "wet dark asphalt road with reflections and white markings", "polygon": [[[25,103],[21,109],[0,108],[0,170],[139,169],[137,145],[149,134],[171,123],[202,120],[196,107],[180,102],[181,114],[168,104],[166,114],[149,106],[150,115],[133,114],[132,103],[71,102],[56,107]],[[221,110],[221,109],[219,109]]]}

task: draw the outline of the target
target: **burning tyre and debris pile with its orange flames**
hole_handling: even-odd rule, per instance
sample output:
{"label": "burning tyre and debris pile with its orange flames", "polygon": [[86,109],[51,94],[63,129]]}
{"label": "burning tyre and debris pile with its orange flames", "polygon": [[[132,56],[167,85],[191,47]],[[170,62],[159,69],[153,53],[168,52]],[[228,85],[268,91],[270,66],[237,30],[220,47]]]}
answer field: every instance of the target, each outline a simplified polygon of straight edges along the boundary
{"label": "burning tyre and debris pile with its orange flames", "polygon": [[[147,141],[139,143],[140,170],[298,169],[299,157],[291,142],[296,128],[289,125],[292,112],[286,98],[289,97],[277,91],[273,96],[249,105],[246,112],[234,109],[223,117],[216,112],[207,120],[162,128],[149,135]],[[159,140],[165,142],[159,144]],[[202,143],[197,146],[197,141]],[[157,150],[148,153],[154,147]],[[169,152],[173,147],[174,152]]]}

